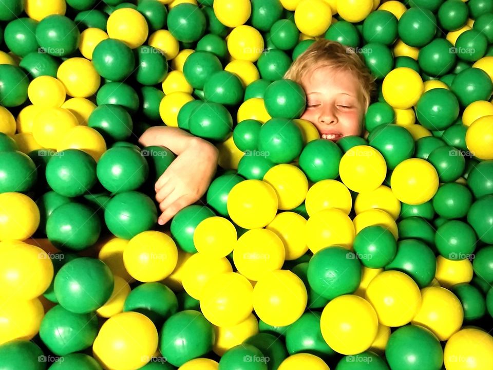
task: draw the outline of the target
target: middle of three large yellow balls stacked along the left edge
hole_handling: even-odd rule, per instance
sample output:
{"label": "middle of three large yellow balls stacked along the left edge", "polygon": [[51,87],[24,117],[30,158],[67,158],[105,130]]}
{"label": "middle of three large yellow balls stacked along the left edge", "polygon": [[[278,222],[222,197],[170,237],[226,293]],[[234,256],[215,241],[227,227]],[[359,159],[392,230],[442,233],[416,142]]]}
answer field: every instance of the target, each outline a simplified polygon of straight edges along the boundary
{"label": "middle of three large yellow balls stacked along the left edge", "polygon": [[26,243],[5,243],[0,248],[0,297],[22,300],[39,297],[53,279],[48,253]]}

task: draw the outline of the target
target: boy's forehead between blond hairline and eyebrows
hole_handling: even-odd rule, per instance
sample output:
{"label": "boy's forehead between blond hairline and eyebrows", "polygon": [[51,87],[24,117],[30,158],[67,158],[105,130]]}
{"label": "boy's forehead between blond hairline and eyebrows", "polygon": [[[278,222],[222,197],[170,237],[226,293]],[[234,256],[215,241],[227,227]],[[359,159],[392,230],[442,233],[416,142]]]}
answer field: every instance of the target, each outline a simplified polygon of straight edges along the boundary
{"label": "boy's forehead between blond hairline and eyebrows", "polygon": [[335,69],[329,66],[315,67],[307,71],[301,79],[301,85],[307,94],[312,92],[328,93],[329,90],[346,92],[358,96],[360,83],[349,70]]}

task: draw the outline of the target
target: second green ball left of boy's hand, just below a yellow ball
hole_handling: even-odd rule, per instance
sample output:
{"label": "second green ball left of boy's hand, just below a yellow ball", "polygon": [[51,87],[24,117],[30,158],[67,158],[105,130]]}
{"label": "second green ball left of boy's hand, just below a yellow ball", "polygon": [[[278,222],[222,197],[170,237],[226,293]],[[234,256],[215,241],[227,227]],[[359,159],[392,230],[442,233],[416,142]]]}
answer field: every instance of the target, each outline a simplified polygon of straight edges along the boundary
{"label": "second green ball left of boy's hand, just below a yellow ball", "polygon": [[81,196],[96,184],[96,161],[81,150],[64,150],[48,161],[46,180],[50,188],[60,195]]}

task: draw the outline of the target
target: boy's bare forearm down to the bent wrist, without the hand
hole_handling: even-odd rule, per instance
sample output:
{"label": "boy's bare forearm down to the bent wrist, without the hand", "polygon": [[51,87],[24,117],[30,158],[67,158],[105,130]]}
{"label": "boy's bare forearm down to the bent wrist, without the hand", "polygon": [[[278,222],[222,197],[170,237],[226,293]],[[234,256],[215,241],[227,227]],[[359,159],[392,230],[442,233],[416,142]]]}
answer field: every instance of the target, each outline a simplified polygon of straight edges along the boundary
{"label": "boy's bare forearm down to the bent wrist, without the hand", "polygon": [[204,140],[181,130],[181,128],[169,126],[150,127],[139,138],[139,144],[142,146],[165,146],[176,155],[180,155],[197,141]]}

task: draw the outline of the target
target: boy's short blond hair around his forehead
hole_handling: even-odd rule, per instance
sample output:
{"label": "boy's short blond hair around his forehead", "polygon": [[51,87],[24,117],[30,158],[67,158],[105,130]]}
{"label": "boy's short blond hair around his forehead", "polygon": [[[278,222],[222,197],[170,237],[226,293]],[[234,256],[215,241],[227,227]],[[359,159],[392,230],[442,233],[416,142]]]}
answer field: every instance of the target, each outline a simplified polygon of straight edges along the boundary
{"label": "boy's short blond hair around his forehead", "polygon": [[299,55],[284,75],[285,79],[301,83],[308,73],[320,67],[346,70],[353,73],[361,83],[361,93],[368,108],[375,93],[375,78],[371,75],[361,55],[354,48],[344,46],[337,41],[318,40]]}

